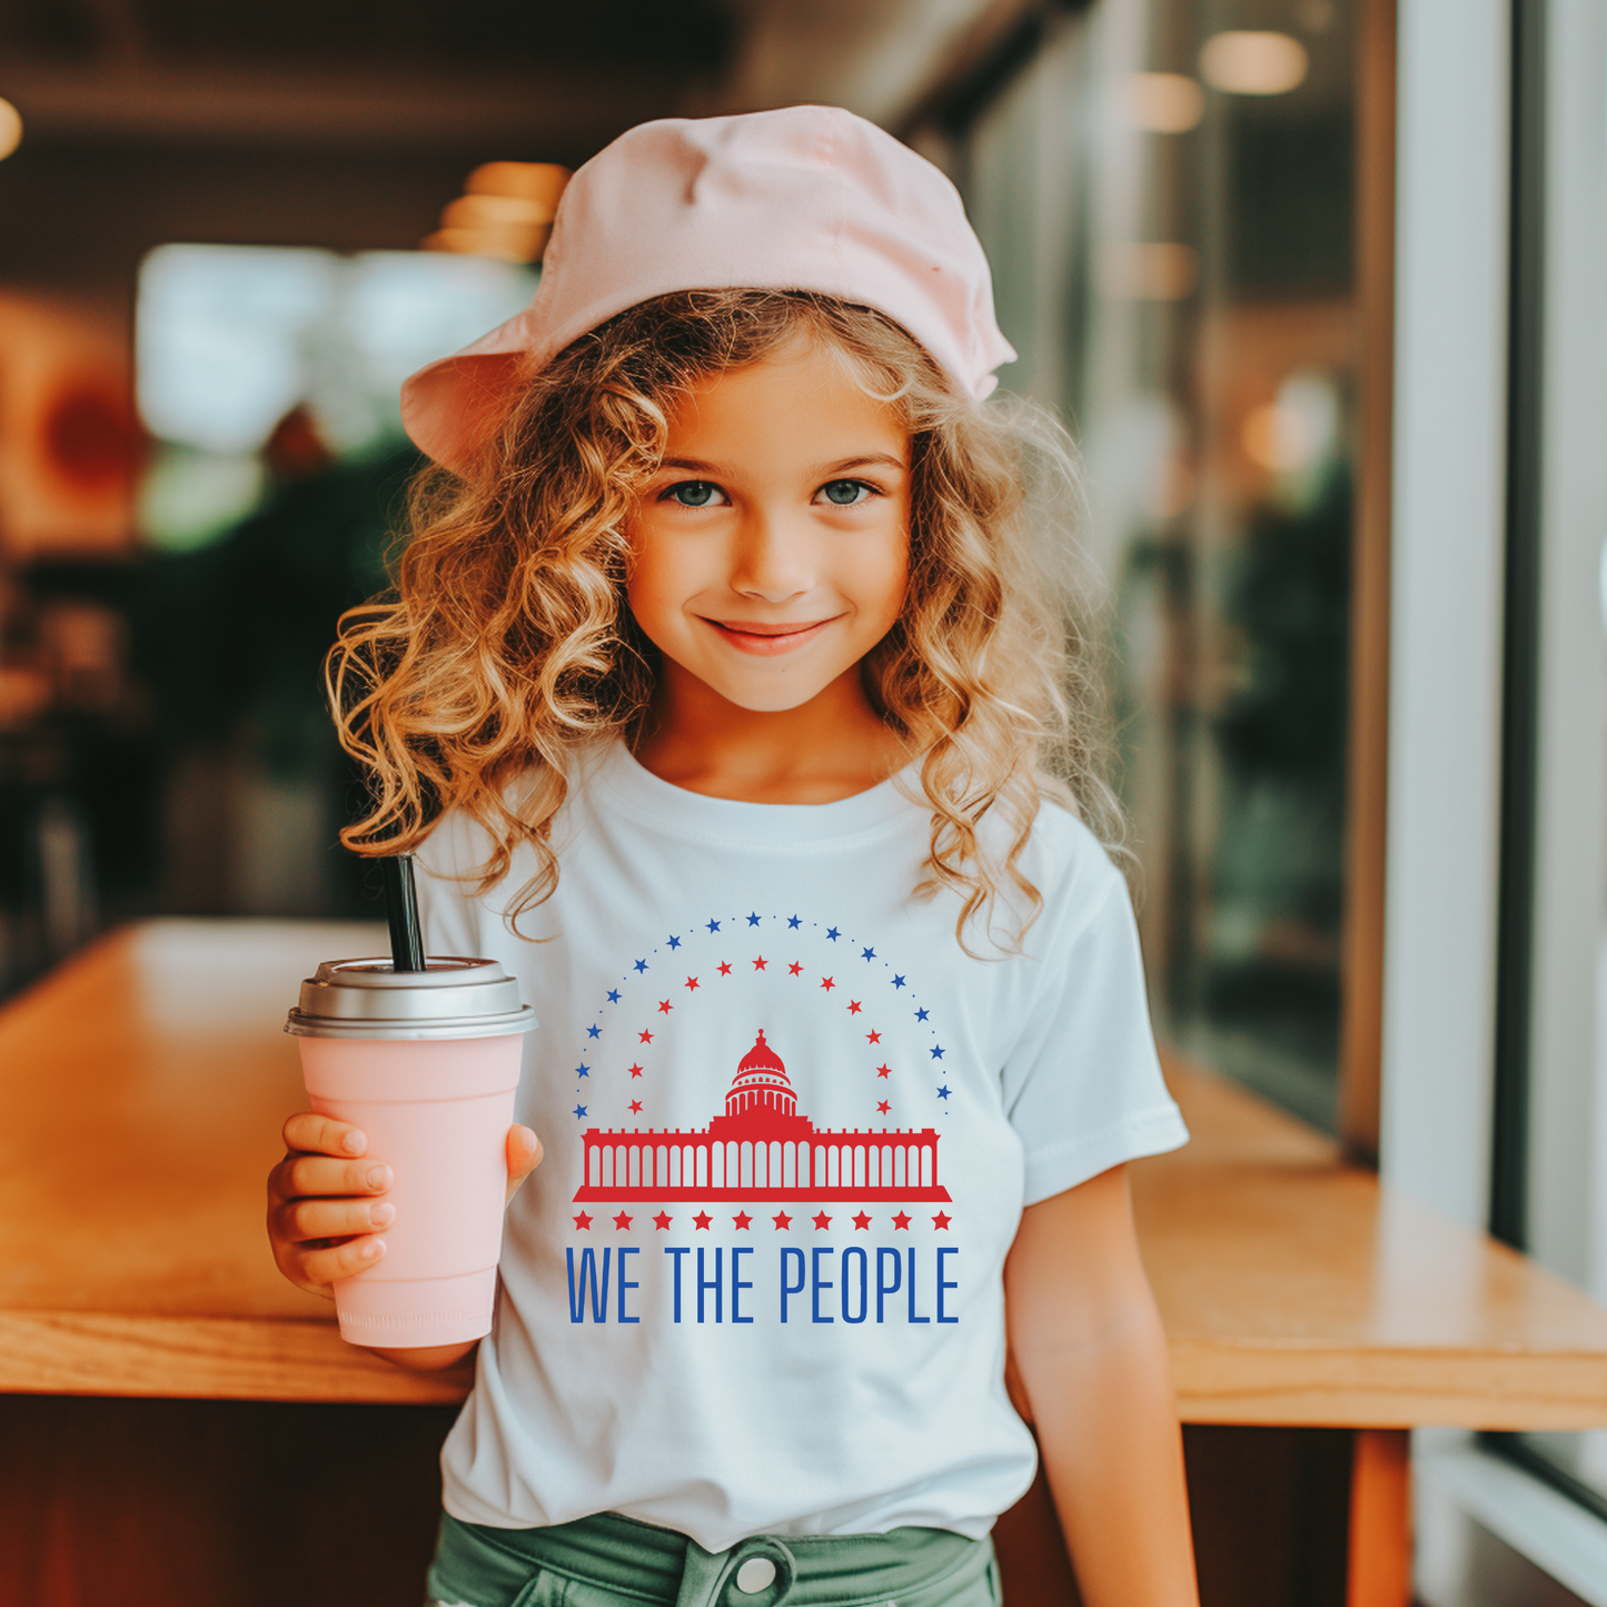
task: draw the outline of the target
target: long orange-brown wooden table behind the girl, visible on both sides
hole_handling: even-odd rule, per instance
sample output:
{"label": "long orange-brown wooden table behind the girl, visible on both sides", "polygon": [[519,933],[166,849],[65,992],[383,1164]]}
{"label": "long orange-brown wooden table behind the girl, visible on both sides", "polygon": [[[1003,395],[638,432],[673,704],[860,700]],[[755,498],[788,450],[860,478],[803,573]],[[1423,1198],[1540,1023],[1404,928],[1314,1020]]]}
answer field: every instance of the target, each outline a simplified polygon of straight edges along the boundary
{"label": "long orange-brown wooden table behind the girl, visible on both sides", "polygon": [[[188,1594],[175,1583],[170,1599],[196,1604],[288,1599],[275,1594],[275,1557],[289,1557],[301,1601],[313,1601],[309,1570],[337,1599],[331,1581],[346,1578],[352,1544],[329,1512],[349,1509],[365,1533],[397,1522],[391,1470],[439,1445],[466,1377],[400,1372],[344,1345],[329,1306],[278,1276],[262,1233],[262,1180],[301,1104],[280,1032],[296,979],[379,948],[379,927],[156,921],[103,938],[0,1011],[0,1556],[22,1546],[34,1559],[35,1594],[21,1599],[145,1599],[92,1588],[109,1557],[93,1540],[98,1515],[130,1490],[143,1501],[130,1533],[145,1536],[170,1527],[174,1506],[227,1504],[225,1486],[256,1514],[244,1528],[217,1514],[190,1522]],[[1302,1607],[1401,1607],[1405,1430],[1607,1424],[1607,1311],[1382,1192],[1327,1139],[1241,1090],[1172,1077],[1194,1141],[1136,1165],[1135,1192],[1183,1419],[1236,1425],[1189,1430],[1207,1607],[1273,1599],[1245,1583],[1242,1523],[1233,1535],[1245,1482],[1287,1495],[1335,1478],[1340,1578],[1319,1570]],[[215,1405],[230,1401],[286,1405]],[[399,1406],[434,1409],[373,1411]],[[1268,1432],[1245,1438],[1247,1425]],[[1294,1429],[1306,1438],[1268,1461],[1265,1448],[1284,1443],[1273,1432]],[[1311,1445],[1329,1450],[1313,1459]],[[427,1456],[419,1466],[408,1512],[427,1517],[434,1469]],[[85,1507],[87,1490],[98,1506]],[[299,1501],[299,1517],[276,1517],[275,1501]],[[320,1522],[328,1536],[307,1540]],[[275,1552],[291,1523],[296,1544]],[[1212,1525],[1228,1536],[1218,1560]],[[1006,1559],[1022,1559],[1012,1607],[1064,1588],[1043,1572],[1049,1528],[1041,1491],[1001,1527]],[[427,1543],[389,1548],[399,1581],[416,1588],[407,1570]],[[170,1572],[172,1544],[149,1548],[166,1560],[148,1559],[146,1578]],[[198,1594],[196,1578],[222,1591],[217,1578],[252,1548],[260,1560],[233,1594]],[[373,1594],[373,1565],[354,1578],[363,1588],[342,1599],[407,1599]]]}

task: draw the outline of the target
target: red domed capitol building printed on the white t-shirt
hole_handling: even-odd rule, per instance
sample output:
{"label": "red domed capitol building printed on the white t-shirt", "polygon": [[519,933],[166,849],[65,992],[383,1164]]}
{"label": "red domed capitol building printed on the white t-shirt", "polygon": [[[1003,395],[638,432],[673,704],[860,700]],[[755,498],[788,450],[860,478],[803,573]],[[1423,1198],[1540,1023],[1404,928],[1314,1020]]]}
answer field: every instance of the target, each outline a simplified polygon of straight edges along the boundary
{"label": "red domed capitol building printed on the white t-shirt", "polygon": [[816,1130],[760,1030],[694,1131],[588,1128],[577,1200],[947,1200],[937,1130]]}

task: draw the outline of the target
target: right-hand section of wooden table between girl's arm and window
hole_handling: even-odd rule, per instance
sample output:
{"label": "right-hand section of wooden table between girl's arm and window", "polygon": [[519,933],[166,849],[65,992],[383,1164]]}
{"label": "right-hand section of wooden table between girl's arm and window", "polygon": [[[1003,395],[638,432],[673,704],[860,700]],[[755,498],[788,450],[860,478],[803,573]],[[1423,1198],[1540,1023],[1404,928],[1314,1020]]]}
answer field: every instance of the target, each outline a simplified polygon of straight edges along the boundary
{"label": "right-hand section of wooden table between girl's arm and window", "polygon": [[[1138,1163],[1133,1184],[1183,1421],[1351,1430],[1345,1593],[1334,1599],[1406,1607],[1408,1430],[1607,1422],[1607,1311],[1382,1189],[1332,1139],[1241,1088],[1176,1065],[1168,1080],[1192,1141]],[[1205,1448],[1200,1430],[1192,1438]],[[1324,1437],[1303,1441],[1284,1470],[1310,1477],[1316,1466],[1323,1477]],[[1340,1461],[1345,1450],[1334,1446]],[[1257,1554],[1210,1556],[1212,1486],[1194,1451],[1202,1583],[1212,1565],[1242,1580]],[[1286,1523],[1298,1522],[1295,1507],[1282,1509]],[[1286,1564],[1281,1576],[1297,1573]],[[1295,1586],[1294,1599],[1313,1599],[1311,1588]]]}

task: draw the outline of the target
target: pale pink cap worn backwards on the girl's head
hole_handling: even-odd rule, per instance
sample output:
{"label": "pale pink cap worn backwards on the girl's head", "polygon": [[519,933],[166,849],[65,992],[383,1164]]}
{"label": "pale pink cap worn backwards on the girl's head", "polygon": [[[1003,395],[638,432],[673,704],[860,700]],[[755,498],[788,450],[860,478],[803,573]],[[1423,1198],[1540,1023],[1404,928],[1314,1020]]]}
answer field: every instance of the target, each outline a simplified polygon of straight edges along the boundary
{"label": "pale pink cap worn backwards on the girl's head", "polygon": [[402,423],[461,466],[517,376],[638,302],[689,289],[821,291],[887,313],[971,395],[1016,352],[959,193],[836,106],[665,117],[622,133],[564,190],[517,317],[402,387]]}

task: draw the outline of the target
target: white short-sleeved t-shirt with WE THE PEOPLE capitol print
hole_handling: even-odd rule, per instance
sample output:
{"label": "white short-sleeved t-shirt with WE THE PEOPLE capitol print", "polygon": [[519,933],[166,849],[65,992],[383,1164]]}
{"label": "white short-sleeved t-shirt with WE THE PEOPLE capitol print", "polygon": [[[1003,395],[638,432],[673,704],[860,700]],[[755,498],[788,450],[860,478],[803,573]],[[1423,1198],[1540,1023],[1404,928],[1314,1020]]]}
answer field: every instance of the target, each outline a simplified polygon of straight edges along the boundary
{"label": "white short-sleeved t-shirt with WE THE PEOPLE capitol print", "polygon": [[519,1118],[546,1151],[442,1453],[453,1517],[614,1511],[709,1551],[982,1536],[1030,1483],[1004,1393],[1022,1207],[1188,1135],[1096,839],[1046,804],[1025,953],[971,958],[958,898],[911,895],[930,816],[908,791],[738,804],[615,746],[521,919],[550,942],[503,921],[527,850],[476,900],[440,873],[484,837],[456,816],[431,836],[429,951],[517,975],[540,1020]]}

